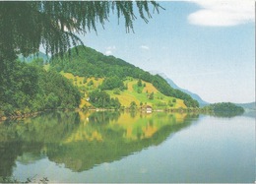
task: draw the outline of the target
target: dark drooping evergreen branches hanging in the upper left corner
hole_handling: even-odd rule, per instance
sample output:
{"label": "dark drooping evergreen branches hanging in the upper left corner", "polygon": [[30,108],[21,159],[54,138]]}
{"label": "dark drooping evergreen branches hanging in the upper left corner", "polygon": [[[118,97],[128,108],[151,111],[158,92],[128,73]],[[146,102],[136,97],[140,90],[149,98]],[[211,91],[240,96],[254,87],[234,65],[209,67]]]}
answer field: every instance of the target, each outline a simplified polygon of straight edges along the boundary
{"label": "dark drooping evergreen branches hanging in the upper left corner", "polygon": [[[0,2],[0,62],[13,61],[16,52],[25,56],[38,51],[63,54],[71,45],[83,44],[77,33],[96,31],[110,12],[125,20],[126,31],[133,30],[134,4],[147,23],[150,6],[159,12],[155,1],[2,1]],[[0,67],[3,69],[2,67]]]}

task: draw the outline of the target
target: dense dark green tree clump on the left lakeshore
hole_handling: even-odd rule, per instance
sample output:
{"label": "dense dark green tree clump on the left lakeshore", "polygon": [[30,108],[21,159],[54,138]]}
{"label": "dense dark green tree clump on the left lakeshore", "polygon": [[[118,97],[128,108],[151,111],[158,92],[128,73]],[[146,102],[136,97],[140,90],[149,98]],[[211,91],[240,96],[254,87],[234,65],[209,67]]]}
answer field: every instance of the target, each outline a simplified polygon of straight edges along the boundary
{"label": "dense dark green tree clump on the left lakeshore", "polygon": [[0,118],[80,104],[78,89],[57,72],[45,71],[37,61],[28,64],[16,60],[2,73]]}

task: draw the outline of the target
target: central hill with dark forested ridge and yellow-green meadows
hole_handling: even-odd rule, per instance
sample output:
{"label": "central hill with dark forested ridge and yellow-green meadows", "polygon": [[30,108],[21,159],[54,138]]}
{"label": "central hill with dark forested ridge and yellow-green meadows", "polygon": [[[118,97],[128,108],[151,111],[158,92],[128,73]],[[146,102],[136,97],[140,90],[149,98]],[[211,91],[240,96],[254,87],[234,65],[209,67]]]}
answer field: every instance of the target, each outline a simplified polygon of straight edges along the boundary
{"label": "central hill with dark forested ridge and yellow-green meadows", "polygon": [[[157,108],[199,106],[189,94],[172,89],[159,75],[152,75],[122,59],[105,56],[86,46],[72,48],[71,56],[68,53],[64,58],[53,56],[50,70],[61,72],[84,92],[81,106],[107,107],[105,105],[117,99],[120,106],[125,107],[129,107],[132,101],[137,107],[145,104]],[[105,95],[105,98],[94,97],[92,92]]]}

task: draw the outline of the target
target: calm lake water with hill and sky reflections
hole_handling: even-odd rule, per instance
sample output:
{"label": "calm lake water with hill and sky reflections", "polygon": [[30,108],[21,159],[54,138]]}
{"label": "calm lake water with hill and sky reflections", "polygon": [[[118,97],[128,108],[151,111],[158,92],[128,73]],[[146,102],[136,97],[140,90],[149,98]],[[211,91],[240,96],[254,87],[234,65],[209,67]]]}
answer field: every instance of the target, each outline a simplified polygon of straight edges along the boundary
{"label": "calm lake water with hill and sky reflections", "polygon": [[0,178],[50,182],[255,181],[255,118],[52,112],[0,123]]}

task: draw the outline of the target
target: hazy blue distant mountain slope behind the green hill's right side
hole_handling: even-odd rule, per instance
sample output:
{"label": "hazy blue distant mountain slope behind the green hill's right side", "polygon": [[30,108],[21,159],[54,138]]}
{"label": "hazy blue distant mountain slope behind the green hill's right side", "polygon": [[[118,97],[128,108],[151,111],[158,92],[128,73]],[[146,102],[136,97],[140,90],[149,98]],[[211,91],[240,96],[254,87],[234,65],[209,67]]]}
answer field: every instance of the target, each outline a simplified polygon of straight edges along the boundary
{"label": "hazy blue distant mountain slope behind the green hill's right side", "polygon": [[188,90],[184,90],[179,88],[171,79],[169,79],[165,74],[159,73],[157,71],[151,72],[152,74],[159,74],[173,89],[179,90],[181,92],[188,93],[193,99],[197,100],[199,102],[200,107],[206,106],[210,104],[209,102],[203,100],[198,94],[189,92]]}

